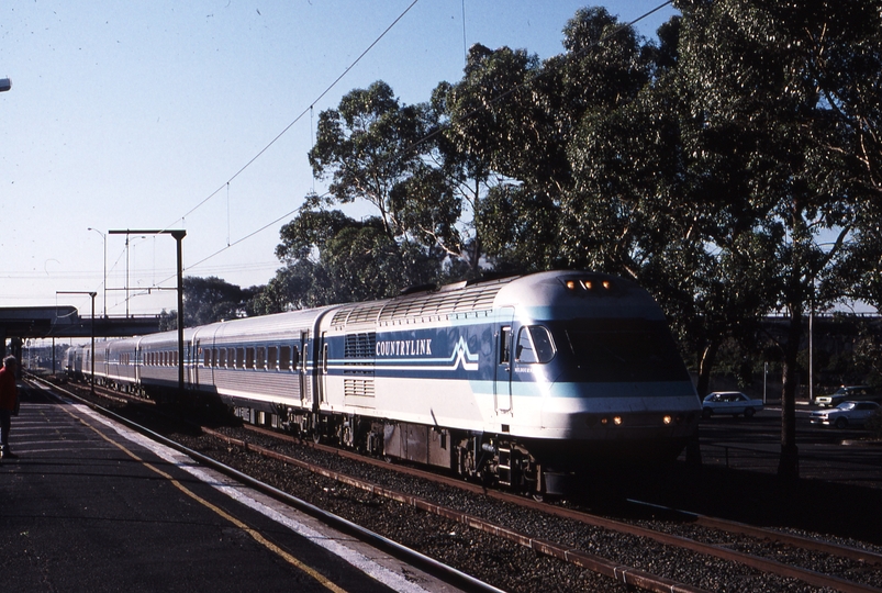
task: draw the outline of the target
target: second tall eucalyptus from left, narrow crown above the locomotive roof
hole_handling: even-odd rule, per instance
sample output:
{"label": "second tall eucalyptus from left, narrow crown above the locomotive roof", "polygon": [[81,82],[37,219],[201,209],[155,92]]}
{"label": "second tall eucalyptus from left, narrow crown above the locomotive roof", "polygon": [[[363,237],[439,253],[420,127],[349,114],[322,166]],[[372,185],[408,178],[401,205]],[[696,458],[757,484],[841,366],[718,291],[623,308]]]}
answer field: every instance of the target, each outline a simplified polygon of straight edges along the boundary
{"label": "second tall eucalyptus from left, narrow crown above the locomotive roof", "polygon": [[[535,209],[518,203],[526,192],[517,175],[525,159],[538,163],[545,156],[525,139],[537,137],[539,109],[531,83],[538,69],[538,58],[524,49],[476,44],[462,79],[443,82],[433,93],[443,126],[443,170],[462,204],[460,227],[470,276],[480,273],[487,257],[498,270],[516,271],[542,246],[529,243],[529,235],[515,226],[538,227],[529,221]],[[536,198],[526,198],[531,199]]]}

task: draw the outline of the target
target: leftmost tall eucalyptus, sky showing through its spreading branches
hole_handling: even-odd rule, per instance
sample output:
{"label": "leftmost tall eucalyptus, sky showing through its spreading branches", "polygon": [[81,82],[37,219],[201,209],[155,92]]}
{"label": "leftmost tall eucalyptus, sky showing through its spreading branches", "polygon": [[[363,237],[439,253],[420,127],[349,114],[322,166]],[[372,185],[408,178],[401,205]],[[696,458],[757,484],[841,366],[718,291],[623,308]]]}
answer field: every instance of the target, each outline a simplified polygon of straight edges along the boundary
{"label": "leftmost tall eucalyptus, sky showing through its spreading branches", "polygon": [[[314,211],[364,201],[377,212],[369,224],[348,221],[343,227],[334,225],[334,233],[315,244],[320,250],[335,247],[343,253],[345,245],[335,237],[346,235],[353,245],[379,257],[373,270],[377,276],[339,275],[342,282],[353,278],[360,283],[361,288],[351,287],[348,296],[381,295],[390,290],[381,289],[381,281],[394,281],[390,286],[395,289],[402,282],[417,283],[427,276],[426,269],[437,272],[445,260],[461,255],[457,226],[461,204],[443,169],[436,120],[437,113],[428,103],[403,105],[382,81],[348,92],[337,109],[320,114],[316,143],[309,157],[313,175],[331,182],[328,194],[312,200],[308,208]],[[367,264],[359,257],[361,251],[354,249],[349,253],[353,261]],[[340,259],[333,249],[323,257],[326,265],[343,269],[336,265]],[[402,262],[401,275],[392,275],[389,268],[397,259]],[[421,269],[406,265],[414,259],[434,262]],[[331,269],[328,272],[334,275]],[[371,283],[373,289],[365,292]]]}

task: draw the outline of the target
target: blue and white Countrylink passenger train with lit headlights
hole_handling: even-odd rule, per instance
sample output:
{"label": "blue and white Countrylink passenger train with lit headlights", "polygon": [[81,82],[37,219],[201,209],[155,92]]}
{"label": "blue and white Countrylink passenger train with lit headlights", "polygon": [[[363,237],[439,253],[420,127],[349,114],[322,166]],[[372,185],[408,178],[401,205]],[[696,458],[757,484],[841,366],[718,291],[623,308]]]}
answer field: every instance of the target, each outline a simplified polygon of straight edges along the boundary
{"label": "blue and white Countrylink passenger train with lit headlights", "polygon": [[658,303],[588,271],[189,327],[182,360],[177,332],[94,349],[71,348],[70,372],[534,495],[595,467],[674,460],[702,410]]}

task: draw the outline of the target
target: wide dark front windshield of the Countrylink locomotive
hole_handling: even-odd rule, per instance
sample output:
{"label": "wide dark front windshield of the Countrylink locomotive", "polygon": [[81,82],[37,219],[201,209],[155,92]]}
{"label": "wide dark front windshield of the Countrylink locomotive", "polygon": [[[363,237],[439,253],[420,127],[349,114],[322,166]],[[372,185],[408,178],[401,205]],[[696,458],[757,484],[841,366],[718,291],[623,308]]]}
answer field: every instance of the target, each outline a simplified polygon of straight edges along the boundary
{"label": "wide dark front windshield of the Countrylink locomotive", "polygon": [[648,320],[574,320],[562,327],[582,381],[688,381],[668,326]]}

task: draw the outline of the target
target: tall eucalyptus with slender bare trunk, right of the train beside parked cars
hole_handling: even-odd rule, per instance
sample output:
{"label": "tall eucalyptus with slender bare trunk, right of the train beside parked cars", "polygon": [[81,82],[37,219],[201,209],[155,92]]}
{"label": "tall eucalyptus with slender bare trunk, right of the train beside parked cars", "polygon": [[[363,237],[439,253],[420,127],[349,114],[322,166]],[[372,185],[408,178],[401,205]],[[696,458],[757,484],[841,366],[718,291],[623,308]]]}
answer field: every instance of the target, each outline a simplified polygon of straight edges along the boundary
{"label": "tall eucalyptus with slender bare trunk, right of the train beside parked cars", "polygon": [[[779,474],[797,475],[795,395],[803,315],[837,295],[836,259],[868,194],[852,182],[853,132],[828,94],[827,56],[853,53],[853,30],[879,26],[870,2],[682,1],[679,68],[693,121],[694,166],[735,159],[736,208],[772,242],[767,281],[790,315],[780,340],[783,414]],[[852,29],[853,27],[853,29]],[[750,244],[747,245],[749,248]],[[768,251],[768,246],[764,248]],[[748,260],[761,261],[752,251]],[[827,302],[822,301],[827,299]]]}

